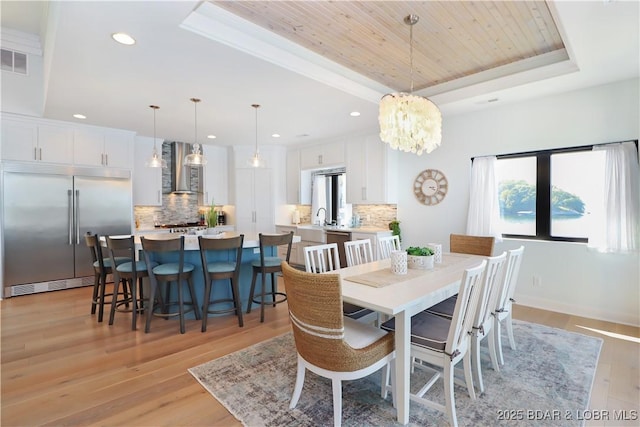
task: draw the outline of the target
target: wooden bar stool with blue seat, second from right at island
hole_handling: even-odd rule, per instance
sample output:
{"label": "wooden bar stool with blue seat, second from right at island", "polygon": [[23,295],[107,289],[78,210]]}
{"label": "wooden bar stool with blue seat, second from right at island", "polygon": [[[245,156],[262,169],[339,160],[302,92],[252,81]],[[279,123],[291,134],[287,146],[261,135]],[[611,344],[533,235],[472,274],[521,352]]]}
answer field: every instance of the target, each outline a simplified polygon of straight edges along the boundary
{"label": "wooden bar stool with blue seat, second from right at island", "polygon": [[[198,236],[200,245],[200,258],[202,259],[202,271],[204,272],[204,298],[202,302],[202,332],[207,330],[207,318],[209,314],[235,313],[238,316],[238,325],[244,325],[242,321],[242,308],[238,281],[240,278],[240,266],[242,262],[242,243],[244,234],[227,239],[208,239]],[[235,254],[232,253],[235,250]],[[226,261],[209,261],[209,256],[218,252]],[[231,286],[231,298],[211,299],[211,288],[215,280],[229,280]],[[209,307],[221,303],[232,303],[231,308],[219,308],[211,310]]]}

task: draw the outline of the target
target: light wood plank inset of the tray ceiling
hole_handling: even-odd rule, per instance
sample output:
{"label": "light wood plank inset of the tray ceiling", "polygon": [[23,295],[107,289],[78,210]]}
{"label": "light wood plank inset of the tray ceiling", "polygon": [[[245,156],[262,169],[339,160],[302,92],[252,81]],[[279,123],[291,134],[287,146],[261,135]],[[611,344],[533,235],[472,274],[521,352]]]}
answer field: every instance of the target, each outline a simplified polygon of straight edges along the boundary
{"label": "light wood plank inset of the tray ceiling", "polygon": [[564,50],[545,1],[213,1],[397,91]]}

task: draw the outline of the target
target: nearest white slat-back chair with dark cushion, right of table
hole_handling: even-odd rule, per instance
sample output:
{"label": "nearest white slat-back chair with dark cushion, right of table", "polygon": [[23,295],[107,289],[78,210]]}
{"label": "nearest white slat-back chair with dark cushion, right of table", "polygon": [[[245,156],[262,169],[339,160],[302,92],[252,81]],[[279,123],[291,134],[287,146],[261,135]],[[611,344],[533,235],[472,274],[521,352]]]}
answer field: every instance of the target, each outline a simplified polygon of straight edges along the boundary
{"label": "nearest white slat-back chair with dark cushion, right of table", "polygon": [[[483,260],[478,266],[465,270],[451,319],[426,311],[411,317],[413,366],[417,369],[435,372],[424,386],[419,388],[417,392],[411,393],[411,400],[446,413],[452,426],[458,425],[453,385],[457,382],[455,381],[454,368],[460,362],[463,364],[464,384],[469,396],[472,399],[476,398],[473,389],[471,331],[473,329],[473,313],[479,303],[486,264],[487,261]],[[382,329],[395,332],[395,318],[383,323]],[[390,371],[394,372],[394,368],[395,361],[392,361]],[[444,405],[425,397],[427,391],[441,377],[444,381]],[[388,379],[385,378],[384,383],[387,385]],[[417,389],[417,387],[412,387],[412,389]]]}

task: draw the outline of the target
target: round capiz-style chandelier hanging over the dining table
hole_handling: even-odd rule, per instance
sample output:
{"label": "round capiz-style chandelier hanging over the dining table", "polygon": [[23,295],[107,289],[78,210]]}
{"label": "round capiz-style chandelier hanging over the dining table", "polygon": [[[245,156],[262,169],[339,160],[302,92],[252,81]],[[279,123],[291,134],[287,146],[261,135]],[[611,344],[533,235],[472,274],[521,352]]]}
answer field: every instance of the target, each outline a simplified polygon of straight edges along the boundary
{"label": "round capiz-style chandelier hanging over the dining table", "polygon": [[413,25],[418,15],[404,18],[409,25],[410,93],[389,93],[380,100],[380,139],[394,150],[421,155],[432,152],[442,140],[442,114],[425,97],[413,95]]}

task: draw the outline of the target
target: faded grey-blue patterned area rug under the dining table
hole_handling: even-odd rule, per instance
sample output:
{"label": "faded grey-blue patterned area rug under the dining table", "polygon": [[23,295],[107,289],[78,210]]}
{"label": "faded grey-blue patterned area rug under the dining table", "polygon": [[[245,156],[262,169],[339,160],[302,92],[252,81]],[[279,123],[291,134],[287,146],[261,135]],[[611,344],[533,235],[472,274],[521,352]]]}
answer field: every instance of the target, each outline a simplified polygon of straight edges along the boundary
{"label": "faded grey-blue patterned area rug under the dining table", "polygon": [[[461,426],[581,425],[587,409],[602,340],[561,329],[514,321],[517,350],[503,338],[505,365],[491,369],[482,348],[485,392],[471,400],[466,388],[455,386]],[[486,341],[486,340],[485,340]],[[289,400],[295,383],[296,352],[291,333],[258,343],[189,372],[243,425],[329,426],[333,424],[331,382],[307,371],[295,409]],[[415,384],[425,374],[416,370]],[[391,397],[380,397],[380,373],[343,382],[342,424],[397,425]],[[444,403],[442,381],[428,392]],[[446,415],[410,403],[409,425],[448,425]]]}

